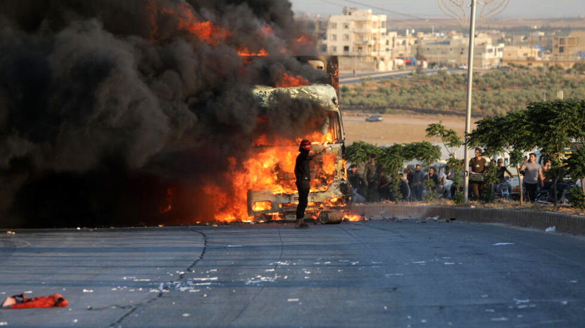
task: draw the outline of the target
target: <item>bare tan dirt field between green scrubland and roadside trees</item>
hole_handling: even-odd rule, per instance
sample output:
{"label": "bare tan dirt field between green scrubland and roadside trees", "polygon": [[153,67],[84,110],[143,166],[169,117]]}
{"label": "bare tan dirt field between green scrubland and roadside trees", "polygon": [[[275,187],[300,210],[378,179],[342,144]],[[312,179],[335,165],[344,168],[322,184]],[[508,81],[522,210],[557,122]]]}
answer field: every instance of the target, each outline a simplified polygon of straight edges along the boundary
{"label": "bare tan dirt field between green scrubland and roadside trees", "polygon": [[[438,116],[422,114],[383,114],[381,122],[366,122],[370,113],[343,113],[343,127],[345,128],[346,144],[355,141],[365,141],[376,145],[392,145],[414,141],[429,141],[440,143],[440,139],[426,138],[425,129],[431,123],[443,122],[446,128],[453,129],[463,139],[465,132],[464,116]],[[473,122],[478,118],[472,117]]]}

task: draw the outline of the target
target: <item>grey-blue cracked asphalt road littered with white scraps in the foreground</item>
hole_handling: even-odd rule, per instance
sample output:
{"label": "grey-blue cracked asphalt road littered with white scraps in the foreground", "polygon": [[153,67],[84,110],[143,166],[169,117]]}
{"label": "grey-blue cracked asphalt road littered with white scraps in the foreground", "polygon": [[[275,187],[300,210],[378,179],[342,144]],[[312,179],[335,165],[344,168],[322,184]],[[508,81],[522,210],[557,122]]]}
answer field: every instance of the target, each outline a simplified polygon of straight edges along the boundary
{"label": "grey-blue cracked asphalt road littered with white scraps in the foreground", "polygon": [[[423,223],[425,222],[425,223]],[[23,327],[577,327],[585,240],[455,221],[23,230],[0,236]]]}

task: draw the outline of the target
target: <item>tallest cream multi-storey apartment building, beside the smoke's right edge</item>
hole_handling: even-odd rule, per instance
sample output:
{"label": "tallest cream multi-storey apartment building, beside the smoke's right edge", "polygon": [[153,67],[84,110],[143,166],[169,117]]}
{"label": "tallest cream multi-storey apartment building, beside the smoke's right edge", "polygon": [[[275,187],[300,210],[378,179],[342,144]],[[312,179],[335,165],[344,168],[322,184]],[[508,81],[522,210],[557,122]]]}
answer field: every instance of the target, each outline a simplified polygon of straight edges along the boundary
{"label": "tallest cream multi-storey apartment building, beside the smoke's right edge", "polygon": [[320,50],[338,55],[340,69],[386,71],[391,53],[386,15],[372,15],[371,9],[344,8],[343,15],[329,17]]}

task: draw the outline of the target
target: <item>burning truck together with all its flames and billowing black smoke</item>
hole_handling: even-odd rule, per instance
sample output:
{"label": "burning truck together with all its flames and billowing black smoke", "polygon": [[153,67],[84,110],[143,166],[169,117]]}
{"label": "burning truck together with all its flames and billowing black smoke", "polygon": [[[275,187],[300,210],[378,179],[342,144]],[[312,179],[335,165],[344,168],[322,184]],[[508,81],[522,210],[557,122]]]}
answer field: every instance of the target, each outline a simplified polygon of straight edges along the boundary
{"label": "burning truck together with all its flames and billowing black smoke", "polygon": [[309,139],[328,151],[307,213],[340,221],[350,188],[337,58],[300,58],[315,45],[289,2],[29,2],[0,15],[0,60],[15,68],[0,86],[0,216],[31,227],[294,219]]}

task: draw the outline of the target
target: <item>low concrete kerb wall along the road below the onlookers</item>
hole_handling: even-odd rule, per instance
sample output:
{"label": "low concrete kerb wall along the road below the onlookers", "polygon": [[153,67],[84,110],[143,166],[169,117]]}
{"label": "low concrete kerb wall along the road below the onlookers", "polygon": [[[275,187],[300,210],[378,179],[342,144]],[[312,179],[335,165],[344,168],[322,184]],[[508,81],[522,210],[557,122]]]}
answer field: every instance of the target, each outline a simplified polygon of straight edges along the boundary
{"label": "low concrete kerb wall along the road below the onlookers", "polygon": [[457,221],[503,223],[542,229],[546,229],[549,226],[556,226],[556,231],[558,232],[585,235],[584,217],[573,217],[571,215],[551,212],[396,204],[354,204],[352,205],[351,211],[356,215],[379,218],[395,216],[422,219],[439,216],[441,219],[456,218]]}

